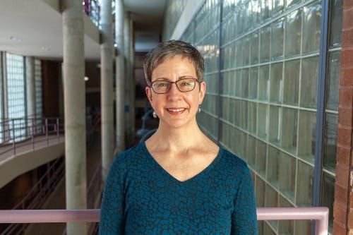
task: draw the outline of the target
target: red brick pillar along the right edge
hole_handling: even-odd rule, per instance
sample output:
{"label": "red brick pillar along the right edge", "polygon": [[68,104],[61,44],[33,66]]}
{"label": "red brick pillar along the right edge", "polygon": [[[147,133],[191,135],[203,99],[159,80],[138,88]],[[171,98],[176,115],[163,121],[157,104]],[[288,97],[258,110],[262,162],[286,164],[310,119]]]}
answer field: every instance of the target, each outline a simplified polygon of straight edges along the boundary
{"label": "red brick pillar along the right edge", "polygon": [[353,2],[343,1],[333,234],[353,234]]}

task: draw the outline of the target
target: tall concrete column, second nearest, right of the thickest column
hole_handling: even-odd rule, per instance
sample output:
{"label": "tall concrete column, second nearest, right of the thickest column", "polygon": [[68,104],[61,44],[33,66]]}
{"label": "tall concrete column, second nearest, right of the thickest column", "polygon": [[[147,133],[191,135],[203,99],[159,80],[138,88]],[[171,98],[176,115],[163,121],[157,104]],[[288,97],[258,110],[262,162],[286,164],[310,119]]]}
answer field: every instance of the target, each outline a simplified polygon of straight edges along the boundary
{"label": "tall concrete column, second nearest, right of the thickest column", "polygon": [[105,182],[114,159],[113,121],[113,32],[112,0],[101,1],[102,44],[100,46],[101,125],[102,125],[102,180]]}

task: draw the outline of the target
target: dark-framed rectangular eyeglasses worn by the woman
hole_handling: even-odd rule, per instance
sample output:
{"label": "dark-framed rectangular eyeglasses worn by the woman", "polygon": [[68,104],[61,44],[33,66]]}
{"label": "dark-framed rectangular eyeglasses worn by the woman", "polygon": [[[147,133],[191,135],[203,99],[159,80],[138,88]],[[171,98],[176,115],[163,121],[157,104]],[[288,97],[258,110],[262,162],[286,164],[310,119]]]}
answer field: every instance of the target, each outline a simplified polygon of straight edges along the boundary
{"label": "dark-framed rectangular eyeglasses worn by the woman", "polygon": [[152,90],[157,94],[165,94],[169,92],[170,88],[172,88],[172,84],[175,83],[177,88],[181,92],[191,92],[195,88],[198,80],[196,78],[183,78],[177,80],[176,82],[169,82],[168,80],[155,80],[152,82]]}

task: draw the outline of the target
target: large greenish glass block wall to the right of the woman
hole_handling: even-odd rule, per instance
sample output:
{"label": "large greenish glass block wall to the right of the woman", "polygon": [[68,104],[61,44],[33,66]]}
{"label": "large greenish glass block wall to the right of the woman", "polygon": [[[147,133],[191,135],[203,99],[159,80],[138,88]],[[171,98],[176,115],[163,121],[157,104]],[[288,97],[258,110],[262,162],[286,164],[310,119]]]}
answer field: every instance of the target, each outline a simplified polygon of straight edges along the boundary
{"label": "large greenish glass block wall to the right of the woman", "polygon": [[[329,2],[323,126],[316,121],[317,104],[323,102],[318,100],[321,1],[205,0],[181,40],[194,44],[205,59],[207,94],[198,123],[249,164],[257,206],[311,206],[319,197],[320,205],[330,208],[332,231],[342,0]],[[314,175],[316,128],[323,128],[318,195],[313,194],[320,177]],[[259,231],[311,234],[311,222],[259,222]]]}

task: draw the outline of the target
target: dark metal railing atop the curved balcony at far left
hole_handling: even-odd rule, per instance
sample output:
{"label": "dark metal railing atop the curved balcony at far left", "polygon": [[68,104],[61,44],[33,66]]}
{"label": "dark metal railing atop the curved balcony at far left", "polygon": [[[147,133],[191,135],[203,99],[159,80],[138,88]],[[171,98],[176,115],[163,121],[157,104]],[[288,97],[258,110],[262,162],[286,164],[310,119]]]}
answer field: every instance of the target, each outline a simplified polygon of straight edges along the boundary
{"label": "dark metal railing atop the curved balcony at far left", "polygon": [[[61,141],[64,133],[64,120],[60,118],[2,119],[0,121],[0,155],[12,152],[16,155],[19,147],[36,143],[47,143],[52,140]],[[42,136],[44,138],[36,138]]]}

